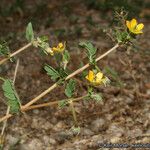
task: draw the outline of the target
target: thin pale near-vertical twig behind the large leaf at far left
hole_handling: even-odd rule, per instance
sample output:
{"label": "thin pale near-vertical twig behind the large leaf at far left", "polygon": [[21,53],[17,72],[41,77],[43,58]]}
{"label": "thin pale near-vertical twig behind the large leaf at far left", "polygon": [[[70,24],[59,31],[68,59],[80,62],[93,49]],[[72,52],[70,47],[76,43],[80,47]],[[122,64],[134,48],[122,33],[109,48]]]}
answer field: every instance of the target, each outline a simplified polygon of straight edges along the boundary
{"label": "thin pale near-vertical twig behind the large leaf at far left", "polygon": [[[16,64],[16,67],[15,67],[13,84],[15,84],[15,80],[16,80],[17,72],[18,72],[18,67],[19,67],[19,59],[17,60],[17,64]],[[10,106],[7,107],[6,116],[9,115],[9,111],[10,111]],[[1,131],[1,137],[4,135],[6,126],[7,126],[7,119],[3,123],[2,131]]]}

